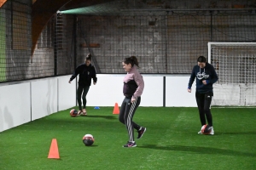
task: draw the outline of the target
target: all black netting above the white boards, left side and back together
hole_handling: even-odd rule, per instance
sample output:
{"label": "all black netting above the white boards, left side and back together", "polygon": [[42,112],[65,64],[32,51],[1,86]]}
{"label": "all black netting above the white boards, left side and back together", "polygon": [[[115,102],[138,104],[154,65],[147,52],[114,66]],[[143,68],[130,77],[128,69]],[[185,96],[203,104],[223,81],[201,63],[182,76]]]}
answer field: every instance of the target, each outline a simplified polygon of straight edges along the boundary
{"label": "all black netting above the white boards, left side and back together", "polygon": [[256,41],[253,1],[239,8],[230,1],[135,2],[58,12],[33,50],[32,1],[7,1],[0,8],[0,82],[68,75],[88,53],[98,73],[124,73],[122,60],[135,55],[142,73],[188,74],[199,55],[207,57],[207,42]]}

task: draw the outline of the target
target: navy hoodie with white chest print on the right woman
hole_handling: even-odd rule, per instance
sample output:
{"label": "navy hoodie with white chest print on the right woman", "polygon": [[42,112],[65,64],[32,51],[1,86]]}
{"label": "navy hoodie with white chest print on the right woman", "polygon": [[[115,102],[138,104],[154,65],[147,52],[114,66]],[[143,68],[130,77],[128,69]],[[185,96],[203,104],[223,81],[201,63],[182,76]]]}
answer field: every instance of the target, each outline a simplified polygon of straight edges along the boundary
{"label": "navy hoodie with white chest print on the right woman", "polygon": [[[196,92],[200,94],[205,94],[207,92],[212,92],[212,84],[218,81],[218,75],[212,65],[206,63],[205,68],[201,69],[199,65],[193,67],[190,79],[189,79],[189,89],[192,87],[193,82],[196,78]],[[203,80],[207,81],[207,84],[203,84]]]}

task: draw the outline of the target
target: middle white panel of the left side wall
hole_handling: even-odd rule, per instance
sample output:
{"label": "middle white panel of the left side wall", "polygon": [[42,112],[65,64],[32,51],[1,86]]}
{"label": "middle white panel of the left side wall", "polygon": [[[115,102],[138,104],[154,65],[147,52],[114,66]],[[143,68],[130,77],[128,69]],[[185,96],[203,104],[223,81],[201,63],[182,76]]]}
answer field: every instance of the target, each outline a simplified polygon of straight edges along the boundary
{"label": "middle white panel of the left side wall", "polygon": [[57,78],[32,82],[32,121],[57,111]]}

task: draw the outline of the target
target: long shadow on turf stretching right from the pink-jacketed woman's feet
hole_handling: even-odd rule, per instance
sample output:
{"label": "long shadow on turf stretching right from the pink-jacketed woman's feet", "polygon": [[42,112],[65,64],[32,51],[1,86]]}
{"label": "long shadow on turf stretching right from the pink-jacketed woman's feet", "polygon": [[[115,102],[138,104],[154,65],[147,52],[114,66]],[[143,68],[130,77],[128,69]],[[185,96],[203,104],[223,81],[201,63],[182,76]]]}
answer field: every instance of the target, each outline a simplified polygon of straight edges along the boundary
{"label": "long shadow on turf stretching right from the pink-jacketed woman's feet", "polygon": [[226,156],[249,156],[256,157],[256,153],[246,153],[236,150],[224,150],[218,148],[208,148],[199,146],[183,146],[183,145],[166,145],[161,146],[157,144],[145,144],[143,146],[137,146],[139,148],[153,149],[153,150],[170,150],[170,151],[185,151],[194,152],[198,154],[218,154]]}

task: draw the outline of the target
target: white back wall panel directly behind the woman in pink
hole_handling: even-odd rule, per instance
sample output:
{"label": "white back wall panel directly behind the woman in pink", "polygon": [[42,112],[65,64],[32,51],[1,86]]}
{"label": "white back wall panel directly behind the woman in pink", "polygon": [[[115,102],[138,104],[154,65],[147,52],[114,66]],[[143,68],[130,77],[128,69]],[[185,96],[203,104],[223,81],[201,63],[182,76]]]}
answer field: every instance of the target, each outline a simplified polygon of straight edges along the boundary
{"label": "white back wall panel directly behind the woman in pink", "polygon": [[[97,75],[98,82],[91,85],[87,94],[88,106],[114,106],[122,104],[124,75]],[[149,77],[143,75],[145,88],[142,95],[141,106],[163,105],[163,77]]]}

